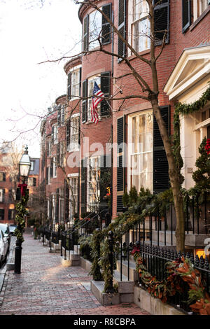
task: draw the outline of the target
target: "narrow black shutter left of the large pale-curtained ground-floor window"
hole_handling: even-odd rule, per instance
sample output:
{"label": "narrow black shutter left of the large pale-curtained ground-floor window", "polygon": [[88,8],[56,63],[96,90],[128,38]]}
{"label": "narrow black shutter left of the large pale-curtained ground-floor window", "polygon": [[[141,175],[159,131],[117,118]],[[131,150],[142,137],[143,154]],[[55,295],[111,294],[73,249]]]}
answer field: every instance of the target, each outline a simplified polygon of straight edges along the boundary
{"label": "narrow black shutter left of the large pale-curtained ground-floor window", "polygon": [[[118,118],[117,123],[117,142],[118,142],[118,167],[117,167],[117,193],[121,193],[121,195],[117,195],[117,211],[123,211],[123,193],[125,186],[125,168],[123,165],[124,162],[124,153],[122,144],[125,141],[125,117]],[[121,145],[121,146],[120,146]]]}

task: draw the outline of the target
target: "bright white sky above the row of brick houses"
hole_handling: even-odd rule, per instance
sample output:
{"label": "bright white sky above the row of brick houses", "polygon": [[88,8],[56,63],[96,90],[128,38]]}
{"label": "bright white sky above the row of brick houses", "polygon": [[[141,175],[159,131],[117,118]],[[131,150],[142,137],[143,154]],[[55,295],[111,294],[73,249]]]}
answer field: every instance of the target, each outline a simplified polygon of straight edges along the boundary
{"label": "bright white sky above the row of brick houses", "polygon": [[66,94],[67,60],[38,62],[80,52],[78,8],[73,0],[0,0],[0,142],[25,132],[16,141],[28,144],[31,157],[39,157],[34,114]]}

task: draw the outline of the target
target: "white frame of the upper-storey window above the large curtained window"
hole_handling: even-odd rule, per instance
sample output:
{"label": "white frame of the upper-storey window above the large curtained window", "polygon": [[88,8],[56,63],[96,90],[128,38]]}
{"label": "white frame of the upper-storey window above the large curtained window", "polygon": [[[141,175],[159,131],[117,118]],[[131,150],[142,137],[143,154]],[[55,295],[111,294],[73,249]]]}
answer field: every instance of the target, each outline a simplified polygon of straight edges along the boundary
{"label": "white frame of the upper-storey window above the large curtained window", "polygon": [[[137,4],[143,3],[143,1],[144,1],[144,4],[142,6],[142,9],[144,10],[144,8],[145,8],[145,11],[142,11],[141,13],[140,12],[136,13]],[[132,45],[132,48],[134,48],[134,50],[136,50],[137,52],[149,50],[150,46],[151,46],[151,39],[149,38],[149,36],[145,35],[145,34],[150,34],[149,13],[148,13],[148,10],[146,9],[146,7],[148,8],[148,4],[146,3],[146,0],[132,0],[132,1],[129,1],[129,4],[128,4],[128,12],[129,12],[128,35],[130,36],[130,43]],[[134,40],[134,36],[135,36],[134,30],[138,29],[138,24],[144,22],[145,20],[146,20],[146,31],[142,31],[142,35],[139,36],[138,38],[135,38],[135,40]],[[139,48],[140,47],[139,40],[141,40],[141,42],[144,44],[143,46],[141,46],[141,48]],[[129,55],[132,55],[132,52],[130,50],[129,50]]]}

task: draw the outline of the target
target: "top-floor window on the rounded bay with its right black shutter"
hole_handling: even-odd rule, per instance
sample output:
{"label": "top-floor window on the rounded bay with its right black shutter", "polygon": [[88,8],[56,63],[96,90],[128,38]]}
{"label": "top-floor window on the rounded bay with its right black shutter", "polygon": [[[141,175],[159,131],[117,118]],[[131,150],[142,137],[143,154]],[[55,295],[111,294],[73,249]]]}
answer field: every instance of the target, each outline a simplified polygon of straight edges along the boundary
{"label": "top-floor window on the rounded bay with its right black shutter", "polygon": [[[111,19],[111,3],[102,6],[102,11]],[[99,46],[100,37],[102,44],[111,42],[111,27],[109,22],[99,11],[94,10],[85,16],[83,21],[83,50],[92,50]]]}

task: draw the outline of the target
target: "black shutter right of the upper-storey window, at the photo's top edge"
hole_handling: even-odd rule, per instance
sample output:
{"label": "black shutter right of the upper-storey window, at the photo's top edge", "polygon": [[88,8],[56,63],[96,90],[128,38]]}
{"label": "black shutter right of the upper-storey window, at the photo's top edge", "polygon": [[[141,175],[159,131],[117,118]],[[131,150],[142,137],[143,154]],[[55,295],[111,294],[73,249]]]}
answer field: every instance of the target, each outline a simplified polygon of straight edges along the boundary
{"label": "black shutter right of the upper-storey window, at the photo's top edge", "polygon": [[[159,0],[155,0],[158,3]],[[165,38],[165,43],[169,43],[169,0],[162,0],[154,8],[154,36],[155,45],[161,45],[163,37],[165,36],[165,31],[167,30],[167,35]]]}

